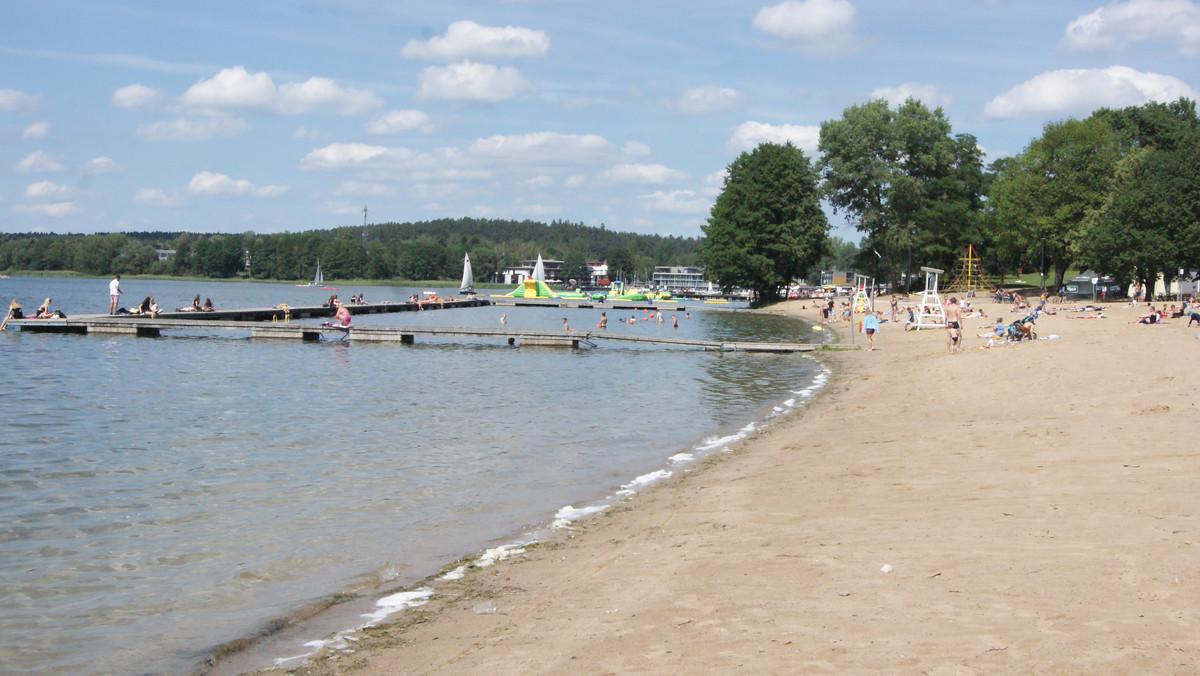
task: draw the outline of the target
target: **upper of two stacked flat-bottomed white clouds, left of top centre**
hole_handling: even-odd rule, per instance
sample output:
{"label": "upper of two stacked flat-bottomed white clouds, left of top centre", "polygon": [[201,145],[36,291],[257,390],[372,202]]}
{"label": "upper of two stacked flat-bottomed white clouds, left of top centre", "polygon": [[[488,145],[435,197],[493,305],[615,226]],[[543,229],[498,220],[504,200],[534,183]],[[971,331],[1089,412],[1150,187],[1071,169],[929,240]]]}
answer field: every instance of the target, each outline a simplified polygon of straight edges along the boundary
{"label": "upper of two stacked flat-bottomed white clouds, left of top centre", "polygon": [[413,40],[400,50],[409,59],[456,61],[458,59],[518,59],[545,56],[550,36],[527,28],[493,28],[475,22],[455,22],[445,36]]}

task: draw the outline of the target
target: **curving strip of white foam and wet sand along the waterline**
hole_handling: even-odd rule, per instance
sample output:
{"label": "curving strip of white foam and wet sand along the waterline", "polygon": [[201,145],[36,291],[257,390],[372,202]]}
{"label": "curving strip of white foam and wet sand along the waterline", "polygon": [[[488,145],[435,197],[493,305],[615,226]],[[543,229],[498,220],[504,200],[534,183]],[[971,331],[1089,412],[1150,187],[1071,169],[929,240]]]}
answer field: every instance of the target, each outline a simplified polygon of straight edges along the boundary
{"label": "curving strip of white foam and wet sand along the waterline", "polygon": [[[776,312],[776,315],[786,313]],[[808,321],[805,323],[814,324]],[[829,329],[826,331],[836,335]],[[834,341],[826,342],[830,345]],[[485,545],[486,549],[445,563],[431,575],[407,582],[397,580],[378,586],[354,585],[316,599],[295,614],[268,620],[260,632],[208,651],[203,663],[199,663],[192,672],[228,676],[276,672],[278,669],[290,671],[322,652],[352,650],[364,638],[364,629],[370,632],[377,626],[409,623],[410,620],[406,614],[412,614],[412,609],[425,605],[426,598],[433,596],[431,587],[440,587],[464,576],[480,574],[484,568],[496,563],[514,561],[510,557],[523,555],[527,549],[542,548],[564,534],[577,532],[581,530],[581,524],[624,509],[631,501],[670,483],[674,477],[694,472],[716,461],[721,455],[732,453],[731,445],[762,433],[763,427],[774,424],[781,414],[808,406],[828,382],[829,369],[811,353],[800,358],[809,359],[814,364],[809,381],[791,385],[779,393],[779,399],[762,402],[757,414],[748,423],[737,427],[716,427],[690,445],[679,445],[676,451],[661,460],[659,468],[630,478],[628,483],[610,489],[607,495],[599,495],[587,501],[583,507],[576,508],[569,504],[538,522],[517,526],[509,536],[490,540]],[[364,578],[371,578],[371,574],[364,574]],[[365,617],[371,618],[368,626],[364,626]],[[307,651],[298,654],[298,647],[302,651],[305,646]],[[272,662],[274,668],[264,666],[264,663]]]}

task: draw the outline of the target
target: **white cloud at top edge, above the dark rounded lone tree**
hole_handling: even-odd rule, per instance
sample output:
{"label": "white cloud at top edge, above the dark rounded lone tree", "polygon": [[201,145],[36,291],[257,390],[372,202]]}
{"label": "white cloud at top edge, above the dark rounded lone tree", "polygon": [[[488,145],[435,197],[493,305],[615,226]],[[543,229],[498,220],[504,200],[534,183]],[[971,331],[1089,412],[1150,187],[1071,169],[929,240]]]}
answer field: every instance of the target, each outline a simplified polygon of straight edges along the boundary
{"label": "white cloud at top edge, above the dark rounded lone tree", "polygon": [[758,10],[754,28],[808,53],[822,54],[847,46],[854,28],[854,6],[847,0],[786,0]]}

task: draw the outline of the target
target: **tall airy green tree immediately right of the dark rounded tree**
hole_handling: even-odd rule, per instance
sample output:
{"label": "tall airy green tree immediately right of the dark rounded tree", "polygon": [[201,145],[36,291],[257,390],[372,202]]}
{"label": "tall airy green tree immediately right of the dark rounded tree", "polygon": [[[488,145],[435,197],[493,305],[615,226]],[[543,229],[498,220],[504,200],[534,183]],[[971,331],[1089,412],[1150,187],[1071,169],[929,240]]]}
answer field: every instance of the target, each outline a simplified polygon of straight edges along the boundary
{"label": "tall airy green tree immediately right of the dark rounded tree", "polygon": [[845,211],[878,252],[893,282],[900,270],[949,265],[980,237],[983,152],[952,134],[941,108],[880,98],[821,124],[818,164],[834,213]]}

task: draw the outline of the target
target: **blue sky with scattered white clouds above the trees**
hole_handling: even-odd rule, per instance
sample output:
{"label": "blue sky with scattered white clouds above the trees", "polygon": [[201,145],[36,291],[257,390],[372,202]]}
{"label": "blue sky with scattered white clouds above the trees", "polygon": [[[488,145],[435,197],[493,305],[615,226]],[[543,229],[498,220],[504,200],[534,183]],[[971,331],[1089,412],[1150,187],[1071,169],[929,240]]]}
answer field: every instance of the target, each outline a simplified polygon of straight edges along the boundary
{"label": "blue sky with scattered white clouds above the trees", "polygon": [[740,152],[816,160],[848,106],[913,96],[991,161],[1200,91],[1200,0],[5,0],[0,19],[5,233],[470,216],[701,237]]}

